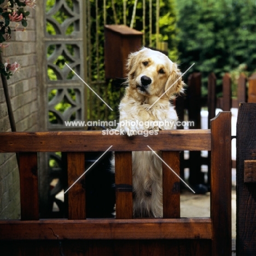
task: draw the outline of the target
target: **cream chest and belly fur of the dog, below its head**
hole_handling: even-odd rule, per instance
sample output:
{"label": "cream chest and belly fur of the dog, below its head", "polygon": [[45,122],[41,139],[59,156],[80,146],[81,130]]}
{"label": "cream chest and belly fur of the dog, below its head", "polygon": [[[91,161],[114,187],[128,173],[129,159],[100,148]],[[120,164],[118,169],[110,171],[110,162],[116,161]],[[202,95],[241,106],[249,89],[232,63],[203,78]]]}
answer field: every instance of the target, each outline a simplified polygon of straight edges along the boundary
{"label": "cream chest and belly fur of the dog, below its head", "polygon": [[[155,100],[155,99],[153,99]],[[141,103],[134,98],[125,96],[120,102],[120,121],[167,121],[177,120],[174,107],[168,101],[159,101],[148,109],[151,104]],[[150,127],[124,127],[130,130],[170,130],[166,125],[152,125]],[[152,135],[157,136],[157,135]],[[154,149],[154,145],[150,145]],[[156,152],[160,157],[161,153]],[[133,176],[133,216],[162,217],[162,162],[152,152],[132,152]]]}

